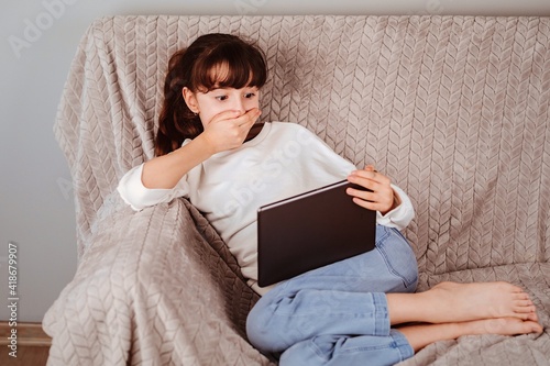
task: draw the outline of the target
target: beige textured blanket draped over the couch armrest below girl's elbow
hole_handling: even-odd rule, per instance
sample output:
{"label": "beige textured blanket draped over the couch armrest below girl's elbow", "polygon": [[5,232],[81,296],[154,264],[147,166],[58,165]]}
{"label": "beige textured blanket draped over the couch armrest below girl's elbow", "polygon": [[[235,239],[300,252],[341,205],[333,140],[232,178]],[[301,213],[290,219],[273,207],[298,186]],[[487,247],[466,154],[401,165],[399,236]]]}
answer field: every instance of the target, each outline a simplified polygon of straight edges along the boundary
{"label": "beige textured blanket draped over the couch armrest below girl's elbow", "polygon": [[44,319],[48,364],[268,364],[243,333],[257,296],[209,245],[220,240],[205,219],[185,200],[140,212],[114,201]]}

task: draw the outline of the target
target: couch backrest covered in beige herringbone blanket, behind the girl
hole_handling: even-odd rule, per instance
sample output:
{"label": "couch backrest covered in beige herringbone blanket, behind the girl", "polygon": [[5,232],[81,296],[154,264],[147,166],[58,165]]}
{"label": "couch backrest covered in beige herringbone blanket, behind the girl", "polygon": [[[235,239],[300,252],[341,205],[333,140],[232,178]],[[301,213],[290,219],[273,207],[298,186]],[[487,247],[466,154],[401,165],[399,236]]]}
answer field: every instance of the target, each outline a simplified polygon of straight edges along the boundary
{"label": "couch backrest covered in beige herringbone blanket, behind the girl", "polygon": [[80,253],[120,177],[153,156],[169,55],[227,32],[265,51],[263,119],[300,123],[411,197],[420,269],[550,257],[550,19],[114,16],[75,57],[55,126]]}

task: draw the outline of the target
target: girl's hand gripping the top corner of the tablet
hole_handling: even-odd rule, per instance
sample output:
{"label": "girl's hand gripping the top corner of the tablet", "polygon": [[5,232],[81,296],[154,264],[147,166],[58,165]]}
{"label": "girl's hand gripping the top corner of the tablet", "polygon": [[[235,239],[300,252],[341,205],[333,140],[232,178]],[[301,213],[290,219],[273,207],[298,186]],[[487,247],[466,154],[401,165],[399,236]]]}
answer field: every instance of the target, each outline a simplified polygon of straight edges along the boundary
{"label": "girl's hand gripping the top corner of the tablet", "polygon": [[348,195],[353,196],[353,202],[365,209],[386,214],[399,204],[398,196],[391,186],[391,179],[376,171],[372,165],[365,166],[363,170],[352,171],[348,176],[348,180],[371,190],[364,191],[354,188],[346,190]]}

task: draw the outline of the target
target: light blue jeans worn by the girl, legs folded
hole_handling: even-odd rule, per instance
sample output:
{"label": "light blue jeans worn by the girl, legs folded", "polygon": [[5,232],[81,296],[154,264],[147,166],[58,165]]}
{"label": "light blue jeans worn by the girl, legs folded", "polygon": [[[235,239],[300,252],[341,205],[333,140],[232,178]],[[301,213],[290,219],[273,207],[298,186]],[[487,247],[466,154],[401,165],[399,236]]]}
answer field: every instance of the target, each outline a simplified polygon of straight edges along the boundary
{"label": "light blue jeans worn by the girl, legs folded", "polygon": [[376,247],[286,280],[246,320],[250,342],[280,365],[394,365],[411,357],[389,325],[386,292],[414,292],[418,266],[396,229],[376,226]]}

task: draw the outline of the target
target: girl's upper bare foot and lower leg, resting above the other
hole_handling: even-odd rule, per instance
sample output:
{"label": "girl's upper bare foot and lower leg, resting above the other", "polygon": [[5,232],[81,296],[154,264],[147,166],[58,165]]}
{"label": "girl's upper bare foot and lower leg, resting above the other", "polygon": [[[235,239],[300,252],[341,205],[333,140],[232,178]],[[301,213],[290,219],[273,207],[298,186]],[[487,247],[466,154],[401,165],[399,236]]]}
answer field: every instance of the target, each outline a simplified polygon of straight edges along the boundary
{"label": "girl's upper bare foot and lower leg, resting above the other", "polygon": [[392,324],[494,318],[538,321],[529,296],[508,282],[441,282],[425,292],[388,293],[386,297]]}

